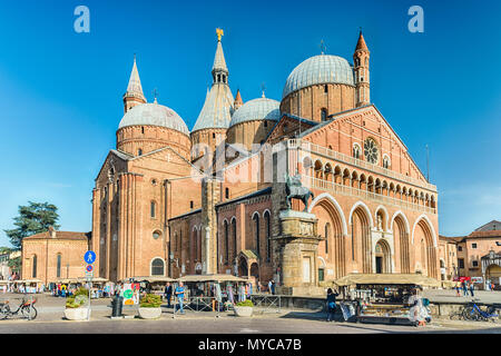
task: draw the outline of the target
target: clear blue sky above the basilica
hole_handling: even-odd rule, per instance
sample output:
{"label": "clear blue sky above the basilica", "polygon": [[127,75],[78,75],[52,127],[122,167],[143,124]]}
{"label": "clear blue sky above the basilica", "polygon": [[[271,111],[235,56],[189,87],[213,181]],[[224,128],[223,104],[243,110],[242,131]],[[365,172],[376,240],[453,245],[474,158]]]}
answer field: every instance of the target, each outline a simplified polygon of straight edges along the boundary
{"label": "clear blue sky above the basilica", "polygon": [[[90,33],[73,30],[77,6]],[[424,32],[411,33],[411,6]],[[18,206],[59,207],[91,229],[91,190],[122,117],[134,53],[145,96],[191,128],[223,46],[234,93],[282,99],[288,73],[326,52],[371,50],[371,99],[439,189],[440,233],[501,218],[500,1],[6,1],[0,3],[0,246]]]}

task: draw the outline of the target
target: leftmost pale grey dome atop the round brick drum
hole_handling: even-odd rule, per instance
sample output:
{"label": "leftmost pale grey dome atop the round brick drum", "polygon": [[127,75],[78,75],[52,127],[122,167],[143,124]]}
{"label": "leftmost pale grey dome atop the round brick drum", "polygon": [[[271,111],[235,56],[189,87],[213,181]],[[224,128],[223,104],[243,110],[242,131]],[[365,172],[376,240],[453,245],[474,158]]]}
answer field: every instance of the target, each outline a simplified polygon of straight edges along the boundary
{"label": "leftmost pale grey dome atop the round brick drum", "polygon": [[118,125],[118,129],[139,125],[160,126],[189,135],[188,127],[180,116],[173,109],[158,103],[141,103],[135,106],[124,115],[120,125]]}

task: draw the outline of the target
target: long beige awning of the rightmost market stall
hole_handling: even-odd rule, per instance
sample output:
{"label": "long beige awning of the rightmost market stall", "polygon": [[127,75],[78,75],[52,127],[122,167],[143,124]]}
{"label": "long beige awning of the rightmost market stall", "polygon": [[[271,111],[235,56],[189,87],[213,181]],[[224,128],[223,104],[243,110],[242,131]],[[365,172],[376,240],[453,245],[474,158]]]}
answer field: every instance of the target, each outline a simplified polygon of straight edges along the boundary
{"label": "long beige awning of the rightmost market stall", "polygon": [[435,278],[419,274],[350,274],[334,280],[334,284],[343,286],[353,285],[415,285],[424,287],[440,287]]}

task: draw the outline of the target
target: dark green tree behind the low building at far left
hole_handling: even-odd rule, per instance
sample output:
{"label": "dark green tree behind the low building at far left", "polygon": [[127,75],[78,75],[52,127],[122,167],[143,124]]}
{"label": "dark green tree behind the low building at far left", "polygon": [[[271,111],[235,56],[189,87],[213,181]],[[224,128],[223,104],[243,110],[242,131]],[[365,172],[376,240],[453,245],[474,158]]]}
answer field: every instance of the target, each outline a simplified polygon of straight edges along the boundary
{"label": "dark green tree behind the low building at far left", "polygon": [[47,231],[49,226],[55,229],[59,228],[57,220],[59,215],[58,208],[49,202],[28,201],[28,206],[19,207],[19,216],[14,217],[13,225],[17,226],[12,230],[3,230],[10,238],[13,249],[20,249],[24,237]]}

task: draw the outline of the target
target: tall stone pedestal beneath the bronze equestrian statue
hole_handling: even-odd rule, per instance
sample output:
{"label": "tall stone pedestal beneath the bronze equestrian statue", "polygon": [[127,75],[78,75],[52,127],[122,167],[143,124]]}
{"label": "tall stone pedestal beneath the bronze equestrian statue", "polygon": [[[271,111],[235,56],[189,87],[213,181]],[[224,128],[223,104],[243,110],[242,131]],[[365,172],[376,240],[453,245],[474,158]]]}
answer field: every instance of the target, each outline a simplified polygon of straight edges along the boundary
{"label": "tall stone pedestal beneath the bronze equestrian statue", "polygon": [[318,286],[318,243],[315,215],[295,210],[279,214],[279,234],[274,238],[274,264],[279,270],[282,295],[323,295]]}

